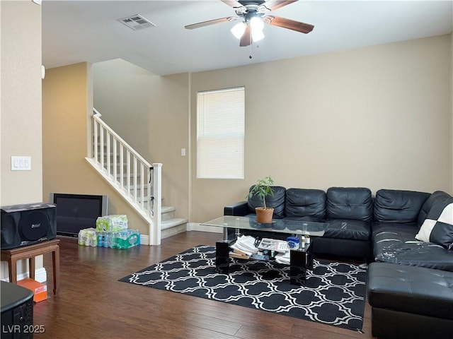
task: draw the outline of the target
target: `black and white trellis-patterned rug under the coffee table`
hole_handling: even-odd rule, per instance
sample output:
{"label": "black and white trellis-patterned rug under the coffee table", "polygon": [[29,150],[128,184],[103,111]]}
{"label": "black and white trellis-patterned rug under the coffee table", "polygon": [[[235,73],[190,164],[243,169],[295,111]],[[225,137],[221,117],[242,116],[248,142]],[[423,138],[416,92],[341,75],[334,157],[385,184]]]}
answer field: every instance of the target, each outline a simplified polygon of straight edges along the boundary
{"label": "black and white trellis-patterned rug under the coffee table", "polygon": [[275,312],[360,331],[367,271],[349,263],[314,260],[302,287],[289,284],[289,266],[232,259],[215,272],[215,247],[196,246],[120,281]]}

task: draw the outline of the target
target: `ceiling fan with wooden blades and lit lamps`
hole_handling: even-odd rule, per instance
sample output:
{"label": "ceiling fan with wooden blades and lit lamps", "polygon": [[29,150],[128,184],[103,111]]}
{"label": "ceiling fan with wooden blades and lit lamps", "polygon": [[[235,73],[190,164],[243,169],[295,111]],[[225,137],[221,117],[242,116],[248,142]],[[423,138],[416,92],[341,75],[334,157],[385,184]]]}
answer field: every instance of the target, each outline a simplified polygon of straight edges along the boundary
{"label": "ceiling fan with wooden blades and lit lamps", "polygon": [[214,23],[225,23],[234,20],[241,20],[241,22],[231,28],[231,32],[235,37],[240,39],[239,46],[249,46],[252,42],[257,42],[263,39],[264,23],[269,25],[295,30],[297,32],[309,33],[313,30],[314,25],[308,23],[301,23],[299,21],[281,18],[280,16],[268,15],[271,11],[277,8],[287,6],[298,0],[221,0],[228,6],[232,7],[237,16],[227,16],[226,18],[219,18],[214,20],[207,20],[201,23],[193,23],[192,25],[184,26],[188,30],[200,28],[207,25],[214,25]]}

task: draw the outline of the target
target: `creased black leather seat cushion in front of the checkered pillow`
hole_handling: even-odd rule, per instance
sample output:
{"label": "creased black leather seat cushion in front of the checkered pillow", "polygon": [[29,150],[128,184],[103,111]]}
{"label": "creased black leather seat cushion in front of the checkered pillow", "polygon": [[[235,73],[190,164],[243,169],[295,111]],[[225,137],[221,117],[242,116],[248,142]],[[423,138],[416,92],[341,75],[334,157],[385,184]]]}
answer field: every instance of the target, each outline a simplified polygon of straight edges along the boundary
{"label": "creased black leather seat cushion in front of the checkered pillow", "polygon": [[374,261],[453,271],[453,251],[415,239],[416,223],[372,224]]}

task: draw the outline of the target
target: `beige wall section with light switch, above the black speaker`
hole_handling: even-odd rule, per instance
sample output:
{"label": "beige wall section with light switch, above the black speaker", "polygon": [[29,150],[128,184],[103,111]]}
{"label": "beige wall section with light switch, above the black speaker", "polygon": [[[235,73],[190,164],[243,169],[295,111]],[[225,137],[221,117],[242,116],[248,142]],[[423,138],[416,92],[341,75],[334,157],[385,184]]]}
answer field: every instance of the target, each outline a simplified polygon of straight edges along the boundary
{"label": "beige wall section with light switch, above the black speaker", "polygon": [[[0,12],[0,204],[35,203],[42,201],[41,7],[31,1],[1,1]],[[30,156],[31,170],[11,171],[12,155]],[[42,268],[41,257],[36,265]],[[18,273],[26,270],[23,261]],[[8,267],[2,261],[1,279],[7,277]]]}

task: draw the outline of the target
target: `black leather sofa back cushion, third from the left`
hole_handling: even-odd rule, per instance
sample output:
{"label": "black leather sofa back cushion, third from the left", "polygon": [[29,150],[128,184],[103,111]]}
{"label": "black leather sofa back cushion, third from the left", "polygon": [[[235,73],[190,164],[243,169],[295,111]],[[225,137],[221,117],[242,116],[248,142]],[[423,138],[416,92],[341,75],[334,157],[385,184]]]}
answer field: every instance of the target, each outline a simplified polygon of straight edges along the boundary
{"label": "black leather sofa back cushion, third from the left", "polygon": [[373,199],[365,187],[331,187],[327,190],[327,218],[371,221]]}

